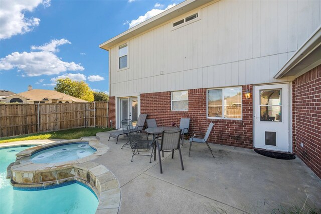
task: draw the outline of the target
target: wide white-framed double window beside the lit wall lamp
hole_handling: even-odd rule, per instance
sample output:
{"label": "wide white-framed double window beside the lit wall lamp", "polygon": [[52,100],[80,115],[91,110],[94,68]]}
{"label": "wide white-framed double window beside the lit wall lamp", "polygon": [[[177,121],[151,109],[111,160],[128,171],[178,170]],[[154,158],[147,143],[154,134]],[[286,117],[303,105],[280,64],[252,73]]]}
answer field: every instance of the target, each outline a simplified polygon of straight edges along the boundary
{"label": "wide white-framed double window beside the lit wall lamp", "polygon": [[207,117],[242,119],[242,87],[208,89]]}

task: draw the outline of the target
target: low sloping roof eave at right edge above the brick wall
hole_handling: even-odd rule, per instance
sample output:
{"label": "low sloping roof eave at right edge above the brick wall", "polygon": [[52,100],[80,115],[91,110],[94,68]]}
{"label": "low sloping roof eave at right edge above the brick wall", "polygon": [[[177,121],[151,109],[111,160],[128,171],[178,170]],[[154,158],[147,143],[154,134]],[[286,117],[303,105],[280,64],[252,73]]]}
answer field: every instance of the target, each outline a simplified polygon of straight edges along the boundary
{"label": "low sloping roof eave at right edge above the brick wall", "polygon": [[298,77],[321,64],[321,25],[285,63],[274,78]]}

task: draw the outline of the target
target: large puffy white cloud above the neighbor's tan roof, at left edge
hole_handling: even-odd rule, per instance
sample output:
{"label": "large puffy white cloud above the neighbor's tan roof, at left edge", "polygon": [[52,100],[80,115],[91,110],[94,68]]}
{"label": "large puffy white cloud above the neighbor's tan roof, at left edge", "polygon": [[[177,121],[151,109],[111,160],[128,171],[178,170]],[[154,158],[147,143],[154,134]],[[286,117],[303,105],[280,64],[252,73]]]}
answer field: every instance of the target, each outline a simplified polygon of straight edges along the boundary
{"label": "large puffy white cloud above the neighbor's tan roof, at left edge", "polygon": [[33,77],[41,75],[54,75],[66,71],[83,71],[81,64],[74,62],[64,62],[54,52],[57,47],[64,44],[70,44],[68,40],[52,40],[43,46],[32,46],[39,52],[14,52],[0,59],[0,70],[18,69],[23,71],[24,75]]}

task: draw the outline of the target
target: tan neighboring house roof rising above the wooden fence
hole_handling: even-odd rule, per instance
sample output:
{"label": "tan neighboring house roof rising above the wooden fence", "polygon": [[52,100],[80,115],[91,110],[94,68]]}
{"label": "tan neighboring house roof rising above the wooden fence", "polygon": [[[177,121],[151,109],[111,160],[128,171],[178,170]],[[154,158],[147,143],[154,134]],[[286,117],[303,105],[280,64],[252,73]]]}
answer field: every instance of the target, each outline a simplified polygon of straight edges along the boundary
{"label": "tan neighboring house roof rising above the wooden fence", "polygon": [[29,100],[41,101],[46,99],[53,99],[53,100],[64,100],[64,101],[74,101],[74,102],[88,102],[86,100],[82,100],[73,96],[69,96],[58,91],[52,90],[44,90],[44,89],[33,89],[30,91],[25,91],[19,94],[10,95],[8,97],[12,97],[15,95],[19,95],[25,97]]}

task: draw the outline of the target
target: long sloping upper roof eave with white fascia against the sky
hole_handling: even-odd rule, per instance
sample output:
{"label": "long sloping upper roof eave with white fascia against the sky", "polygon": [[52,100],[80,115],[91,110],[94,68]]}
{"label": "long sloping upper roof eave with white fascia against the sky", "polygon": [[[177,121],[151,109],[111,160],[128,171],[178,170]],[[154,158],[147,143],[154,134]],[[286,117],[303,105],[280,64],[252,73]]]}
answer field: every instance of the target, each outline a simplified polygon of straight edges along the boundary
{"label": "long sloping upper roof eave with white fascia against the sky", "polygon": [[152,29],[158,25],[167,23],[168,21],[179,17],[183,14],[186,14],[202,5],[205,5],[210,2],[218,2],[219,0],[186,0],[185,2],[182,2],[181,4],[161,13],[157,16],[154,16],[150,18],[149,20],[146,20],[145,22],[140,23],[137,26],[134,26],[130,28],[129,30],[119,34],[118,36],[115,36],[114,38],[104,42],[103,44],[99,45],[99,48],[105,49],[109,51],[110,48],[117,45],[120,42],[126,41],[130,39],[131,37],[137,36],[149,29]]}

